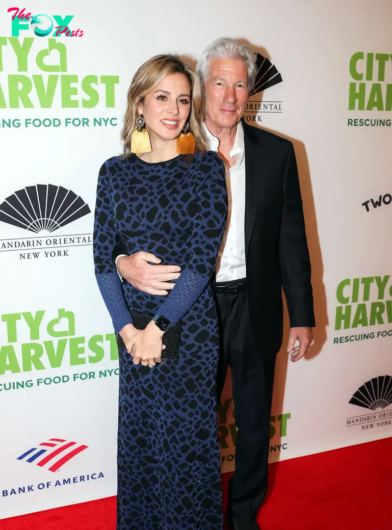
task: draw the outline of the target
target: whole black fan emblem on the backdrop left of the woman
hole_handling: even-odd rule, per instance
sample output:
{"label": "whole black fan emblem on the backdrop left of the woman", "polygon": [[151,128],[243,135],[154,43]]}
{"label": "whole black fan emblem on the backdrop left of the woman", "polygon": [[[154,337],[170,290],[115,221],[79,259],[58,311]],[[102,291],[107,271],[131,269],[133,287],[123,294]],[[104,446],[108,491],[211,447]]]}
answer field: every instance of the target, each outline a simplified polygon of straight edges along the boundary
{"label": "whole black fan emblem on the backdrop left of the woman", "polygon": [[72,190],[36,184],[15,191],[0,205],[0,221],[30,232],[54,232],[87,214],[90,208]]}

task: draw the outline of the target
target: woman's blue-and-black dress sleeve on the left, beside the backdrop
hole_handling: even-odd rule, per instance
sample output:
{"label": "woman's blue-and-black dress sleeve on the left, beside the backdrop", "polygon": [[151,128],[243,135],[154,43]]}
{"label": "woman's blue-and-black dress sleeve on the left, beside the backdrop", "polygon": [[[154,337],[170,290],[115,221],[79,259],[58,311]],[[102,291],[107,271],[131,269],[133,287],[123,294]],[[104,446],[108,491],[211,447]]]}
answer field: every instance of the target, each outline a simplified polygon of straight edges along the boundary
{"label": "woman's blue-and-black dress sleeve on the left, beside the backdrop", "polygon": [[116,243],[113,199],[106,161],[99,173],[94,215],[93,256],[95,277],[116,333],[132,323],[122,294],[121,280],[113,261]]}

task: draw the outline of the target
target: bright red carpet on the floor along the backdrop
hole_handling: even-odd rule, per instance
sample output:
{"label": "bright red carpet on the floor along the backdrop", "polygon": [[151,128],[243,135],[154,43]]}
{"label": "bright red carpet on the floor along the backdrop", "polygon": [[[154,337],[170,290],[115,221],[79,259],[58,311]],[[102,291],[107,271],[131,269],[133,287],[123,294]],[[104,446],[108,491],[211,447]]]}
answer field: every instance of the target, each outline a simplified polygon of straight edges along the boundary
{"label": "bright red carpet on the floor along the backdrop", "polygon": [[[391,454],[387,438],[271,464],[262,530],[390,530]],[[115,497],[0,520],[0,530],[73,529],[115,530]]]}

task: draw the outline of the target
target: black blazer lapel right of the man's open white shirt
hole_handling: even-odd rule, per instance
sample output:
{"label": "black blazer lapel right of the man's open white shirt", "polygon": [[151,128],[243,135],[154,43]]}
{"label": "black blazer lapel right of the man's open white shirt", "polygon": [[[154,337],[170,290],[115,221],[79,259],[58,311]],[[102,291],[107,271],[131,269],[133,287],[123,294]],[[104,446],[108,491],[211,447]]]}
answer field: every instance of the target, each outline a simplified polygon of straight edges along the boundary
{"label": "black blazer lapel right of the man's open white shirt", "polygon": [[253,127],[243,121],[245,145],[245,257],[247,258],[256,220],[261,188],[262,145]]}

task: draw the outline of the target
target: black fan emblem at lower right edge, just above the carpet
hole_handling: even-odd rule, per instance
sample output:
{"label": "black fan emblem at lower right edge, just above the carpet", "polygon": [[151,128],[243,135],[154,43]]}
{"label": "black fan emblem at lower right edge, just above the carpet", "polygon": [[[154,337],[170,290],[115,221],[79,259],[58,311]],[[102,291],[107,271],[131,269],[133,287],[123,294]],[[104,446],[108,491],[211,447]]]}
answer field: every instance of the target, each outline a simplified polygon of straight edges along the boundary
{"label": "black fan emblem at lower right edge, just above the carpet", "polygon": [[364,409],[385,409],[392,403],[392,376],[380,375],[358,388],[349,401]]}

